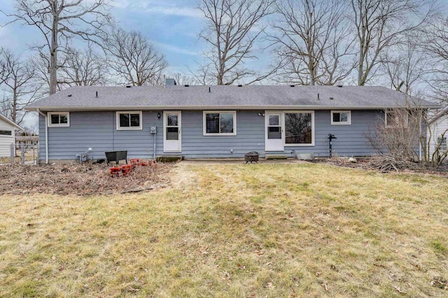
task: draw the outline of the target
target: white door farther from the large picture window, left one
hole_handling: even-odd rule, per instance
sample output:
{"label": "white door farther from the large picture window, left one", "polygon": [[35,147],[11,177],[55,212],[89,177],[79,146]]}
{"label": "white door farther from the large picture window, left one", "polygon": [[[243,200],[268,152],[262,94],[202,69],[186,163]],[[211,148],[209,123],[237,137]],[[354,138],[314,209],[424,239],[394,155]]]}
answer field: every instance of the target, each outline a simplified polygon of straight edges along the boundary
{"label": "white door farther from the large picture window, left one", "polygon": [[163,151],[182,151],[181,111],[163,112]]}

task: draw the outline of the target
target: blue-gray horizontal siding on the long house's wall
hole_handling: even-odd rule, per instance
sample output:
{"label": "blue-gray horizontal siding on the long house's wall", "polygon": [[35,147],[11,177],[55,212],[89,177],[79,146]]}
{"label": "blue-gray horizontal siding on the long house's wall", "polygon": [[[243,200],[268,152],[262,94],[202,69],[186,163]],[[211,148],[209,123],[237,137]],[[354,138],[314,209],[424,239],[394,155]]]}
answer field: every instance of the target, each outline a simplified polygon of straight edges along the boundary
{"label": "blue-gray horizontal siding on the long house's wall", "polygon": [[[160,111],[162,114],[162,111]],[[265,118],[258,113],[265,111],[237,111],[236,136],[204,136],[203,111],[182,111],[182,152],[163,152],[163,117],[158,111],[143,111],[142,130],[117,130],[116,111],[71,112],[70,127],[48,127],[49,159],[75,159],[76,154],[93,148],[92,159],[105,158],[104,152],[127,150],[128,157],[151,158],[153,138],[150,127],[157,127],[156,156],[183,155],[187,158],[242,157],[248,151],[265,153]],[[314,112],[315,146],[286,146],[281,153],[290,156],[291,151],[313,152],[328,156],[328,134],[334,134],[333,152],[339,156],[372,155],[365,141],[365,133],[374,127],[380,111],[351,111],[351,125],[331,125],[330,111]],[[39,116],[40,159],[45,160],[45,118]],[[230,152],[233,150],[233,153]]]}

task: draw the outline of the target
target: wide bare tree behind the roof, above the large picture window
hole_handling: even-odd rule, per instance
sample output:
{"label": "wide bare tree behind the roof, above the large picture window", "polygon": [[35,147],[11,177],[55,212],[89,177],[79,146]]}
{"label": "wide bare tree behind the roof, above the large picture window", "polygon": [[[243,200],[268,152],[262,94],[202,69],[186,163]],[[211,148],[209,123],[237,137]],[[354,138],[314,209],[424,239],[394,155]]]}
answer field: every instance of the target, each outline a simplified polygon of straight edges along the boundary
{"label": "wide bare tree behind the roof, above the large picture window", "polygon": [[353,41],[340,0],[281,0],[270,36],[279,59],[279,82],[334,85],[353,70]]}

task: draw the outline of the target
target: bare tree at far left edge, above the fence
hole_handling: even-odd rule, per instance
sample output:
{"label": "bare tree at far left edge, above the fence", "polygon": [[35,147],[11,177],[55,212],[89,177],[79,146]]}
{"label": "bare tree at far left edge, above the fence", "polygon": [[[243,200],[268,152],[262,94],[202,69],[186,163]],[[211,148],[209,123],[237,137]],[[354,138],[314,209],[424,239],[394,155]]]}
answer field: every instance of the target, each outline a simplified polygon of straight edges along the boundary
{"label": "bare tree at far left edge, above the fence", "polygon": [[0,49],[3,70],[0,73],[3,115],[19,124],[27,114],[25,106],[38,99],[40,85],[36,83],[34,68],[29,60],[16,56],[10,50]]}

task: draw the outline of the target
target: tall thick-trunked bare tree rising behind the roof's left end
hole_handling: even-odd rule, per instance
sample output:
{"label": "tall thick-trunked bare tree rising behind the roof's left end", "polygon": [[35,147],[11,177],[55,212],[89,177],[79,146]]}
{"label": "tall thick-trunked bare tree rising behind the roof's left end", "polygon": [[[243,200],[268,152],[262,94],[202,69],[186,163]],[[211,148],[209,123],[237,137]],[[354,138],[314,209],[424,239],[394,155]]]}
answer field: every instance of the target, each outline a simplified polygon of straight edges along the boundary
{"label": "tall thick-trunked bare tree rising behind the roof's left end", "polygon": [[97,42],[104,26],[112,22],[109,0],[17,0],[11,22],[36,27],[45,42],[36,48],[48,51],[50,94],[57,91],[58,53],[73,37]]}

